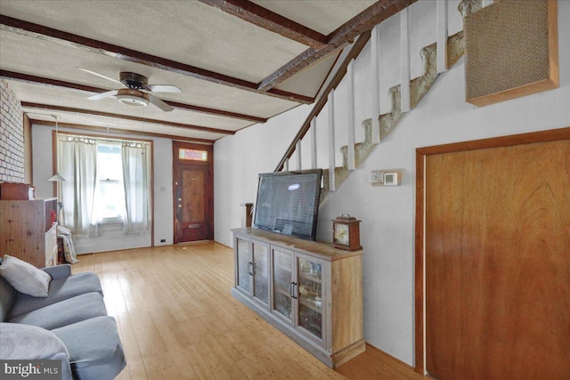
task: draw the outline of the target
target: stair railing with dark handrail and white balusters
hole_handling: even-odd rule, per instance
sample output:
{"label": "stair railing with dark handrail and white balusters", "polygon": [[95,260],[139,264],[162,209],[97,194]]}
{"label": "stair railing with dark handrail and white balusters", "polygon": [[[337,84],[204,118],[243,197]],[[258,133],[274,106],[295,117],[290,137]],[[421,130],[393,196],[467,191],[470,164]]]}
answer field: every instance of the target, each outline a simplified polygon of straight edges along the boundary
{"label": "stair railing with dark handrail and white balusters", "polygon": [[[420,56],[423,64],[423,74],[420,77],[410,79],[411,61],[410,61],[410,8],[405,8],[400,12],[400,51],[401,51],[401,84],[391,87],[388,91],[392,108],[387,114],[380,115],[380,79],[379,79],[379,25],[368,31],[358,38],[353,44],[351,50],[338,67],[334,77],[330,80],[324,90],[319,94],[314,108],[306,117],[305,122],[295,135],[293,141],[289,144],[289,148],[281,158],[279,165],[275,168],[275,172],[281,170],[289,170],[289,158],[297,153],[297,169],[301,169],[301,141],[305,134],[311,130],[310,145],[311,150],[311,167],[317,166],[317,138],[316,138],[316,119],[321,113],[325,105],[328,105],[329,112],[329,166],[323,171],[323,189],[322,201],[326,199],[328,191],[337,190],[340,183],[346,180],[349,171],[355,170],[356,166],[362,162],[368,154],[370,154],[373,145],[386,138],[387,135],[395,128],[403,114],[410,112],[418,102],[423,98],[425,93],[433,85],[436,77],[451,67],[460,56],[464,53],[463,38],[464,34],[461,30],[453,36],[448,35],[448,0],[436,2],[436,43],[425,46],[420,50]],[[461,0],[458,11],[463,17],[470,12],[480,9],[484,3],[482,0]],[[358,125],[354,119],[354,60],[362,52],[364,46],[371,39],[371,82],[372,82],[372,114],[371,119],[364,120],[362,126],[365,130],[365,139],[362,142],[355,142],[355,125]],[[340,82],[346,77],[348,103],[346,104],[346,120],[347,128],[347,145],[340,148],[343,155],[342,166],[336,166],[335,146],[335,90]],[[343,125],[345,123],[342,123]],[[324,196],[324,198],[323,198]],[[322,203],[322,202],[321,202]]]}

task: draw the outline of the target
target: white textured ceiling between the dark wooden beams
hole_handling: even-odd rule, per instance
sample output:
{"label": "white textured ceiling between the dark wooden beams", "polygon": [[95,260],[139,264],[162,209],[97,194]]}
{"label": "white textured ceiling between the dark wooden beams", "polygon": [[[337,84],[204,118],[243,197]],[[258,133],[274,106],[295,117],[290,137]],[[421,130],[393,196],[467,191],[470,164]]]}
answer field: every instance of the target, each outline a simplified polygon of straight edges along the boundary
{"label": "white textured ceiling between the dark wooden beams", "polygon": [[[256,0],[252,3],[331,36],[377,2]],[[3,17],[0,77],[12,87],[32,120],[53,120],[49,115],[56,114],[65,125],[91,125],[204,141],[216,141],[256,121],[314,101],[341,50],[322,54],[319,60],[274,85],[269,93],[257,91],[257,84],[279,72],[309,46],[224,12],[219,4],[225,5],[221,0],[0,0]],[[35,26],[30,23],[55,29],[57,36],[44,28],[33,29]],[[61,37],[58,31],[73,36]],[[121,56],[106,48],[89,46],[79,37],[150,54],[151,58],[135,62],[125,59],[128,51]],[[165,61],[167,64],[162,64]],[[88,96],[120,85],[77,67],[115,79],[119,72],[131,71],[148,77],[151,85],[176,85],[182,93],[154,94],[163,101],[209,110],[197,111],[185,106],[165,112],[151,105],[129,107],[115,98],[89,101]],[[207,74],[215,79],[189,75],[192,69],[208,70]],[[65,85],[53,81],[63,81]],[[85,86],[95,89],[85,91]],[[280,92],[287,93],[276,96]]]}

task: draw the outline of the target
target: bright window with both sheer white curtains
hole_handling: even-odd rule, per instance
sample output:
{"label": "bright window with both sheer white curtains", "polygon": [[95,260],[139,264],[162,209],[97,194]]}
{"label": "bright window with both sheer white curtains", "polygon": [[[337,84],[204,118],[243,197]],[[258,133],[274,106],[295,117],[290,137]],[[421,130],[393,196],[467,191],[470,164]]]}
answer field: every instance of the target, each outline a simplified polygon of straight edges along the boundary
{"label": "bright window with both sheer white curtains", "polygon": [[60,133],[62,221],[74,235],[95,237],[101,223],[120,222],[124,233],[151,229],[151,142]]}

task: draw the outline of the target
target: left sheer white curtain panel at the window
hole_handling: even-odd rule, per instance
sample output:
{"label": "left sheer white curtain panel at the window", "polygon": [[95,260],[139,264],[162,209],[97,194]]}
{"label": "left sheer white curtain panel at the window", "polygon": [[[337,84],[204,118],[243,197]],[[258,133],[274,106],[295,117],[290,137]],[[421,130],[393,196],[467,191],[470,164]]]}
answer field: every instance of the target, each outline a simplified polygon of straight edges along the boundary
{"label": "left sheer white curtain panel at the window", "polygon": [[92,236],[92,215],[97,184],[97,141],[88,137],[60,134],[57,139],[63,224],[73,235]]}

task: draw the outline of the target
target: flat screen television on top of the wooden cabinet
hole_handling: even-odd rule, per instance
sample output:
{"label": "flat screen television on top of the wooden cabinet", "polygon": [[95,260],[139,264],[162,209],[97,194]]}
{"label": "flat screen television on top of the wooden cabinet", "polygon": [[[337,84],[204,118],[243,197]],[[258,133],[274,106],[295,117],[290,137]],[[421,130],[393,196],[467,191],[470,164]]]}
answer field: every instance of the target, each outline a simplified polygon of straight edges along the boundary
{"label": "flat screen television on top of the wooden cabinet", "polygon": [[322,169],[259,174],[254,227],[314,240]]}

